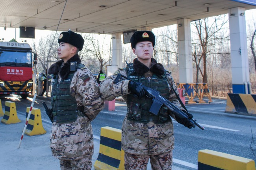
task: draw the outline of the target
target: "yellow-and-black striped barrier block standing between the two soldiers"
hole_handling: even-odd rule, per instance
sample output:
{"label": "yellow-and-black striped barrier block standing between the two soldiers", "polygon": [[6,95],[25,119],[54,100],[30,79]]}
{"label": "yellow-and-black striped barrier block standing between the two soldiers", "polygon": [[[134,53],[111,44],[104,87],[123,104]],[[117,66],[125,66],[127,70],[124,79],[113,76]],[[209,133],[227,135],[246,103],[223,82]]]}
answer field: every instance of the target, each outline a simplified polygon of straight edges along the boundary
{"label": "yellow-and-black striped barrier block standing between the two soldiers", "polygon": [[121,149],[121,130],[111,127],[100,129],[100,151],[95,170],[124,170],[124,151]]}

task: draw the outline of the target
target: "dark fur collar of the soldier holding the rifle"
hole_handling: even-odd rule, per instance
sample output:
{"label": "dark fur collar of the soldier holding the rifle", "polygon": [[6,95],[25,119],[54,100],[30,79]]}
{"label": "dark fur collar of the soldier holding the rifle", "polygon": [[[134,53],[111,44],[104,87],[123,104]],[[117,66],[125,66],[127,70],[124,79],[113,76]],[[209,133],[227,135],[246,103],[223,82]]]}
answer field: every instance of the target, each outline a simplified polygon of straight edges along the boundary
{"label": "dark fur collar of the soldier holding the rifle", "polygon": [[165,69],[163,68],[163,65],[160,63],[157,63],[157,61],[154,58],[151,58],[151,67],[148,68],[143,63],[141,63],[138,58],[134,59],[134,70],[139,75],[144,75],[148,71],[151,71],[152,73],[156,73],[158,75],[163,75],[165,73]]}

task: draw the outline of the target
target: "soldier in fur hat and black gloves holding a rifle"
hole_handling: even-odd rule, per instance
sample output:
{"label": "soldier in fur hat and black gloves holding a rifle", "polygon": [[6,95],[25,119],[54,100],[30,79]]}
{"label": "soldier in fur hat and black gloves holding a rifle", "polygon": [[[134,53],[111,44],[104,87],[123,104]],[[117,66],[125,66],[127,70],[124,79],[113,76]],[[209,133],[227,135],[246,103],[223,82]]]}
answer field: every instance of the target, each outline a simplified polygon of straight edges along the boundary
{"label": "soldier in fur hat and black gloves holding a rifle", "polygon": [[[152,99],[145,96],[141,83],[159,91],[163,97],[181,108],[171,86],[177,93],[178,91],[171,72],[166,71],[162,64],[152,58],[154,34],[151,31],[136,31],[130,42],[137,58],[126,68],[119,68],[113,75],[104,79],[100,83],[100,93],[102,98],[108,101],[122,96],[128,107],[122,124],[125,169],[146,170],[150,158],[152,170],[171,170],[174,133],[170,116],[188,128],[192,128],[193,124],[187,119],[178,119],[165,106],[161,107],[158,115],[148,112]],[[130,80],[113,83],[118,73],[136,83]]]}

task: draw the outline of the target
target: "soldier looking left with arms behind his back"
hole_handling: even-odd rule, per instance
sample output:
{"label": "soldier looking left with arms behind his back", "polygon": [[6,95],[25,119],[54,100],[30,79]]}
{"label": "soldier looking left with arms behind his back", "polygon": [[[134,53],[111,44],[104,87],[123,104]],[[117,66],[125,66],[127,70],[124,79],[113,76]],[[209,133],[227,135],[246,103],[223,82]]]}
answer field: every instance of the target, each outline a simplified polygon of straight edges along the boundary
{"label": "soldier looking left with arms behind his back", "polygon": [[104,108],[98,84],[91,71],[81,64],[78,51],[84,40],[72,31],[58,39],[58,62],[49,74],[52,81],[52,154],[61,170],[91,170],[93,130],[91,121]]}

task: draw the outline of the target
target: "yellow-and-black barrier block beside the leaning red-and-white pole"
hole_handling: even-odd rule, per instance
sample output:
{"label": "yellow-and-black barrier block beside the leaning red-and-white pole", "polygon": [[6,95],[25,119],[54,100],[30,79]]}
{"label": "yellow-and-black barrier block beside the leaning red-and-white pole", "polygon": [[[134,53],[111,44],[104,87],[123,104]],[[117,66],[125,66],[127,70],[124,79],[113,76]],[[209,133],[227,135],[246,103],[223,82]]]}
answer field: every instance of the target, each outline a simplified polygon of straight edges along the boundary
{"label": "yellow-and-black barrier block beside the leaning red-and-white pole", "polygon": [[[26,120],[28,118],[29,111],[30,111],[30,107],[27,107]],[[43,135],[45,133],[46,133],[46,130],[43,128],[41,110],[38,108],[32,108],[25,134],[28,136],[33,136],[33,135]]]}

